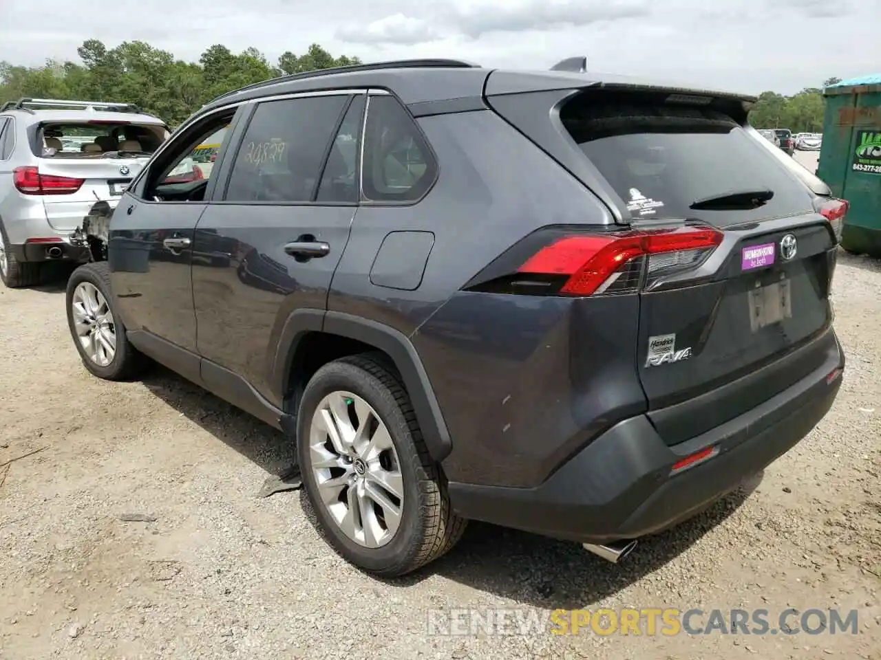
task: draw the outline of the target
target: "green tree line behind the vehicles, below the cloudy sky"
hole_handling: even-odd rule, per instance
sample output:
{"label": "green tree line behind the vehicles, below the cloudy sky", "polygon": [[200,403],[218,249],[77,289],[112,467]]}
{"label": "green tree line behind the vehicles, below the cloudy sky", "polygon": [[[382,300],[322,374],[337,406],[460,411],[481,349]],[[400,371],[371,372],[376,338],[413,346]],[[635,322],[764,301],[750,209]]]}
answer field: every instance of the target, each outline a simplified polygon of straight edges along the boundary
{"label": "green tree line behind the vehicles, below the cloudy sky", "polygon": [[[235,54],[222,44],[206,48],[199,62],[184,62],[144,41],[107,48],[97,39],[77,49],[79,62],[49,60],[39,67],[0,62],[0,103],[29,98],[111,100],[133,103],[172,127],[219,94],[271,77],[359,64],[357,57],[334,57],[313,44],[303,55],[285,52],[275,64],[257,48]],[[824,86],[838,82],[829,78]],[[750,114],[756,128],[789,128],[795,133],[823,128],[822,90],[792,96],[762,92]]]}

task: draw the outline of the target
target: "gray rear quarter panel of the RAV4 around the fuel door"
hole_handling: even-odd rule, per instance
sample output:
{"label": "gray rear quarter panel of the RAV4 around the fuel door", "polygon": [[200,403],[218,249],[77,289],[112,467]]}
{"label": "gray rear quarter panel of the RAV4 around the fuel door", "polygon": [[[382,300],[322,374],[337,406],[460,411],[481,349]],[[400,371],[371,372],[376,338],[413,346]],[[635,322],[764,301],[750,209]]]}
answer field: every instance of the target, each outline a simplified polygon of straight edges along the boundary
{"label": "gray rear quarter panel of the RAV4 around the fuel door", "polygon": [[[418,123],[438,158],[438,180],[415,205],[359,208],[329,310],[411,337],[452,438],[444,461],[450,480],[534,485],[607,417],[644,409],[634,350],[639,301],[460,289],[540,227],[607,225],[613,217],[492,111]],[[367,276],[393,231],[433,232],[415,290],[378,286]],[[402,260],[401,268],[411,264]],[[607,387],[597,389],[603,377]]]}

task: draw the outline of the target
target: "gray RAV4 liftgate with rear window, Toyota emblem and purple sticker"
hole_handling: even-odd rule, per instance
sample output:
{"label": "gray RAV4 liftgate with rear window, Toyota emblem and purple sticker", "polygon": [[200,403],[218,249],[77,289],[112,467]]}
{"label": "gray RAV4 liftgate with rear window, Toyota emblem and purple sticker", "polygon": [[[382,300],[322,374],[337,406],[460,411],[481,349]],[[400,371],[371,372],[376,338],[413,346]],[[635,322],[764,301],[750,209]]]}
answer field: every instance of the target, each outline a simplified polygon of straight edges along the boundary
{"label": "gray RAV4 liftgate with rear window, Toyota emblem and purple sticker", "polygon": [[[721,110],[631,98],[591,95],[564,110],[566,125],[626,202],[634,228],[704,224],[721,241],[710,251],[648,256],[636,348],[649,408],[659,409],[751,374],[822,333],[831,322],[834,235],[808,187],[760,136]],[[715,422],[795,383],[815,362],[720,401]],[[668,440],[704,426],[679,426]]]}

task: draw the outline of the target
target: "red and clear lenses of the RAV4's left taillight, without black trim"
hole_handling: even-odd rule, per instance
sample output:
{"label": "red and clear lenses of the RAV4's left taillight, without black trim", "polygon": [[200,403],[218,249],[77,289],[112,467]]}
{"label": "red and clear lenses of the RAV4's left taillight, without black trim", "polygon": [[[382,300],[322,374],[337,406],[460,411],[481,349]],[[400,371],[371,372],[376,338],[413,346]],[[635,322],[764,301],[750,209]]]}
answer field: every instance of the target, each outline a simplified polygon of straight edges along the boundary
{"label": "red and clear lenses of the RAV4's left taillight, without black trim", "polygon": [[544,246],[517,272],[566,275],[559,294],[590,296],[607,290],[634,260],[647,257],[648,273],[662,275],[670,269],[697,264],[720,243],[722,232],[691,226],[622,234],[571,235]]}

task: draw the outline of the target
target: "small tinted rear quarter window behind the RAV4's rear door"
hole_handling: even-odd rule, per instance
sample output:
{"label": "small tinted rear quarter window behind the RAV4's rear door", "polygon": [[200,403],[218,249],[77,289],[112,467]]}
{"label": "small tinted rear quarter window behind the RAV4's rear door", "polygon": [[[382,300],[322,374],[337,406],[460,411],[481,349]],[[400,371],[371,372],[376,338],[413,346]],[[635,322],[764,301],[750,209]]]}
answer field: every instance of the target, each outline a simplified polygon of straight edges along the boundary
{"label": "small tinted rear quarter window behind the RAV4's rear door", "polygon": [[362,183],[367,199],[411,202],[432,186],[431,150],[410,114],[392,96],[367,106]]}

